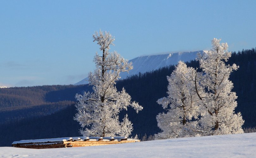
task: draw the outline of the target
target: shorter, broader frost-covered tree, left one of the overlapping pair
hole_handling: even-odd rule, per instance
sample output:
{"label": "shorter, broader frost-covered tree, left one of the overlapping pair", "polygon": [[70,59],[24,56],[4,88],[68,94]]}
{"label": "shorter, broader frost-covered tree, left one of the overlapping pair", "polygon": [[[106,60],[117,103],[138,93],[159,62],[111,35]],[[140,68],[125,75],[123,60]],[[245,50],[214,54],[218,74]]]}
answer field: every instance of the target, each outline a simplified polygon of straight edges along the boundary
{"label": "shorter, broader frost-covered tree, left one of the overlapping pair", "polygon": [[[198,134],[200,103],[195,91],[196,70],[179,62],[171,76],[167,76],[168,97],[157,100],[167,113],[157,115],[157,125],[162,130],[156,138],[192,137]],[[200,89],[201,90],[201,89]],[[199,90],[198,90],[199,91]]]}

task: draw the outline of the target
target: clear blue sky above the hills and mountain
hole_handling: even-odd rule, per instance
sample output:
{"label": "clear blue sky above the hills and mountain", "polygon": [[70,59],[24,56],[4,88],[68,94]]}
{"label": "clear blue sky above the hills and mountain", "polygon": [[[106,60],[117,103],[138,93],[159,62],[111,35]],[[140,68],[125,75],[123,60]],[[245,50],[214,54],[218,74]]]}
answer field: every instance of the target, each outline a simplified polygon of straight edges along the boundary
{"label": "clear blue sky above the hills and mountain", "polygon": [[74,84],[94,69],[92,34],[115,36],[124,58],[256,46],[256,1],[0,0],[0,86]]}

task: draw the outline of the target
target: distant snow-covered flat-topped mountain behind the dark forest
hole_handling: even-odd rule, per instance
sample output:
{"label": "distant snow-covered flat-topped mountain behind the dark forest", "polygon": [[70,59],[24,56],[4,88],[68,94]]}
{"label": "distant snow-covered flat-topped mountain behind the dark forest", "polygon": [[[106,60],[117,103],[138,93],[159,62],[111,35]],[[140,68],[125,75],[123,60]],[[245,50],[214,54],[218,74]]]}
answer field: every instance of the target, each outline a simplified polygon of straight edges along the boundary
{"label": "distant snow-covered flat-topped mountain behind the dark forest", "polygon": [[[128,73],[121,73],[120,76],[122,79],[130,75],[138,74],[139,72],[144,73],[152,70],[157,70],[161,67],[177,64],[181,61],[190,61],[197,58],[198,53],[203,53],[204,51],[195,51],[195,52],[176,52],[168,54],[159,54],[159,55],[147,55],[141,56],[129,60],[132,62],[133,69]],[[83,79],[80,82],[77,82],[74,85],[87,84],[88,77]]]}

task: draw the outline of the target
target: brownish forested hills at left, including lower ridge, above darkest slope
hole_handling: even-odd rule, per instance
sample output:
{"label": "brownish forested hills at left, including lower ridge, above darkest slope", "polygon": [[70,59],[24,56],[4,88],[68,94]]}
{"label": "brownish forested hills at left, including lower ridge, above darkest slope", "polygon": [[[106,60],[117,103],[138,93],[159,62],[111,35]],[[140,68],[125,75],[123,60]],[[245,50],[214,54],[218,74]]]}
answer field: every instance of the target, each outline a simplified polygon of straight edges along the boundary
{"label": "brownish forested hills at left, including lower ridge, above darkest slope", "polygon": [[74,106],[75,94],[82,94],[90,88],[85,85],[0,88],[0,124],[46,116]]}

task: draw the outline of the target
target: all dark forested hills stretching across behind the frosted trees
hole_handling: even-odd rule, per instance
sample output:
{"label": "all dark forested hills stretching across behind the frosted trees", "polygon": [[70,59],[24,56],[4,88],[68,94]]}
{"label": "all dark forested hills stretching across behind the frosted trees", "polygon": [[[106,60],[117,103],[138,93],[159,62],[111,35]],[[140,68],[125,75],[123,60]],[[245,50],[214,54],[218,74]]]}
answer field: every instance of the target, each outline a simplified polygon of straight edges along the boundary
{"label": "all dark forested hills stretching across behind the frosted trees", "polygon": [[[227,64],[237,64],[240,68],[231,73],[230,80],[234,83],[238,106],[245,123],[243,128],[256,127],[256,52],[242,50],[233,52]],[[198,61],[186,63],[198,68]],[[169,76],[175,69],[174,65],[159,70],[139,73],[117,82],[116,87],[123,87],[131,95],[132,101],[143,106],[138,114],[132,108],[121,111],[120,119],[128,113],[133,123],[132,136],[139,138],[159,132],[156,115],[164,112],[156,100],[166,96]],[[88,85],[53,85],[35,87],[14,87],[0,89],[0,146],[11,146],[13,141],[21,139],[40,139],[54,137],[80,136],[78,122],[73,120],[76,113],[75,94],[90,91]]]}

